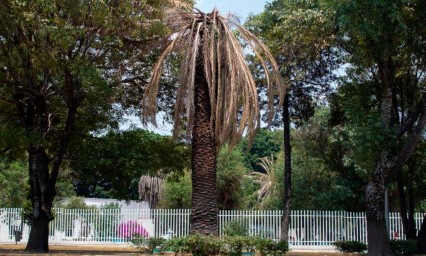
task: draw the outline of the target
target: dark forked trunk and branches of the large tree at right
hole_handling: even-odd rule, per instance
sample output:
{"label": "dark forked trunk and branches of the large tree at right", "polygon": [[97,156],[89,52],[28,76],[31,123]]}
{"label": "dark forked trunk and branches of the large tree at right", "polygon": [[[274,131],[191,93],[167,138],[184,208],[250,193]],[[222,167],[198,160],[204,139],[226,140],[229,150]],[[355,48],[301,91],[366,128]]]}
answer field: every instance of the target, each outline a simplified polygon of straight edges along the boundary
{"label": "dark forked trunk and branches of the large tree at right", "polygon": [[[382,61],[380,61],[382,60]],[[393,152],[393,138],[390,131],[395,128],[393,123],[393,97],[392,83],[395,79],[393,62],[389,59],[378,61],[381,76],[380,111],[381,122],[384,129],[384,138],[381,145],[381,153],[377,160],[375,171],[372,173],[370,182],[366,188],[366,211],[367,211],[367,242],[368,255],[394,255],[389,242],[384,219],[384,192],[392,176],[400,170],[415,151],[426,124],[426,104],[424,97],[418,103],[414,120],[411,122],[411,134],[403,148]],[[405,124],[401,125],[405,127]],[[405,132],[404,132],[405,133]]]}

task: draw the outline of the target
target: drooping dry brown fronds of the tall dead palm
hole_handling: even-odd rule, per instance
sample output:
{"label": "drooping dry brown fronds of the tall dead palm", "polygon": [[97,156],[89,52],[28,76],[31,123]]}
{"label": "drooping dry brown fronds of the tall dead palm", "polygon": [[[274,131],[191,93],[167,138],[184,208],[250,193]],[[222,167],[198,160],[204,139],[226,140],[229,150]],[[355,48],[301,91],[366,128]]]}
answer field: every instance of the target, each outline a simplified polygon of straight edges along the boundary
{"label": "drooping dry brown fronds of the tall dead palm", "polygon": [[[180,84],[175,106],[174,131],[177,135],[182,120],[186,120],[188,132],[194,117],[194,80],[197,61],[202,61],[204,76],[209,87],[211,117],[214,137],[218,146],[228,142],[234,146],[247,133],[249,141],[260,126],[258,94],[255,81],[244,58],[240,40],[231,28],[235,28],[242,40],[250,46],[265,70],[268,85],[271,117],[275,92],[282,94],[284,88],[278,66],[266,46],[247,29],[213,10],[204,14],[198,10],[181,13],[176,31],[170,34],[171,43],[161,54],[153,69],[142,102],[146,124],[155,125],[156,97],[163,63],[171,52],[182,55]],[[176,24],[175,24],[176,25]],[[283,96],[280,96],[280,104]]]}

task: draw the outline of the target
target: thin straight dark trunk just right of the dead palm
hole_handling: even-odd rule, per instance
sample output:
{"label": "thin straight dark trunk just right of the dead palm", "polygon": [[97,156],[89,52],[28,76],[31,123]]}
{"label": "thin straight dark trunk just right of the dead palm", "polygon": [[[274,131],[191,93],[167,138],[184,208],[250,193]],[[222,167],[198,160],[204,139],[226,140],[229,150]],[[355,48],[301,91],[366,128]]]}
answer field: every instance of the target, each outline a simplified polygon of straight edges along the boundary
{"label": "thin straight dark trunk just right of the dead palm", "polygon": [[285,95],[283,107],[284,123],[284,209],[281,217],[281,241],[288,241],[288,230],[290,226],[291,207],[291,144],[290,144],[290,111],[289,94]]}

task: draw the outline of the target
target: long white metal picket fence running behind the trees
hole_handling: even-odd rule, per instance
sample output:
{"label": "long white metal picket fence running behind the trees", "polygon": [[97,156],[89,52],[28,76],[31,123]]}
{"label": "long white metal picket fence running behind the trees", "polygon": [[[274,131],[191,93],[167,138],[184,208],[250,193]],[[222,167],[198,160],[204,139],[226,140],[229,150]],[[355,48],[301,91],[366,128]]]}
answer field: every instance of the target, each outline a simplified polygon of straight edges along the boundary
{"label": "long white metal picket fence running behind the trees", "polygon": [[[14,242],[15,230],[28,240],[30,227],[22,221],[21,209],[0,209],[0,243]],[[50,223],[50,243],[125,243],[134,235],[169,238],[189,232],[189,209],[55,209]],[[220,211],[219,233],[239,223],[251,236],[278,239],[282,211]],[[416,213],[420,229],[422,213]],[[389,234],[405,239],[399,213],[390,213]],[[292,211],[290,245],[329,246],[336,240],[366,242],[365,213],[344,211]]]}

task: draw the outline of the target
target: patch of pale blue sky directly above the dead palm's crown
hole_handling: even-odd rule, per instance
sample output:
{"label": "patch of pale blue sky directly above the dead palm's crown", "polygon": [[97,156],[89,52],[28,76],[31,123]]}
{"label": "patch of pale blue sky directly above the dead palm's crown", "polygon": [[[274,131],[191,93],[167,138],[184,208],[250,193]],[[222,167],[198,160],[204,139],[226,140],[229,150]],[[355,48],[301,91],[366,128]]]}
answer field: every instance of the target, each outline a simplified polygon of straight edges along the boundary
{"label": "patch of pale blue sky directly above the dead palm's crown", "polygon": [[220,13],[232,13],[243,23],[250,13],[258,14],[271,0],[196,0],[195,7],[202,12],[211,12],[216,7]]}

